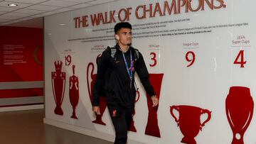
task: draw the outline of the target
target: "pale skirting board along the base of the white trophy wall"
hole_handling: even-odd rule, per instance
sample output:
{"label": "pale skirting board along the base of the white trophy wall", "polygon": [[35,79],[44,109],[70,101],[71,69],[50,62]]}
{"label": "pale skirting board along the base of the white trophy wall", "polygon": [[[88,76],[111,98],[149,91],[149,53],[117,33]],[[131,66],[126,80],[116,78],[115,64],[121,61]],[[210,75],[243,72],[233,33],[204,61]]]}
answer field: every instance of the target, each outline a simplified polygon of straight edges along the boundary
{"label": "pale skirting board along the base of the white trophy wall", "polygon": [[[110,141],[110,142],[114,142],[114,135],[109,135],[107,133],[101,133],[101,132],[98,132],[98,131],[91,131],[91,130],[88,130],[86,128],[82,128],[82,127],[79,127],[79,126],[74,126],[74,125],[71,125],[71,124],[68,124],[68,123],[62,123],[60,121],[55,121],[55,120],[52,120],[52,119],[49,119],[49,118],[43,118],[43,123],[46,123],[46,124],[49,124],[51,126],[56,126],[58,128],[64,128],[66,130],[69,130],[69,131],[75,131],[76,133],[82,133],[84,135],[89,135],[89,136],[92,136],[92,137],[95,137],[95,138],[100,138],[102,140],[107,140],[107,141]],[[145,144],[145,143],[141,143],[141,142],[137,142],[137,141],[134,141],[134,140],[128,140],[128,144]]]}

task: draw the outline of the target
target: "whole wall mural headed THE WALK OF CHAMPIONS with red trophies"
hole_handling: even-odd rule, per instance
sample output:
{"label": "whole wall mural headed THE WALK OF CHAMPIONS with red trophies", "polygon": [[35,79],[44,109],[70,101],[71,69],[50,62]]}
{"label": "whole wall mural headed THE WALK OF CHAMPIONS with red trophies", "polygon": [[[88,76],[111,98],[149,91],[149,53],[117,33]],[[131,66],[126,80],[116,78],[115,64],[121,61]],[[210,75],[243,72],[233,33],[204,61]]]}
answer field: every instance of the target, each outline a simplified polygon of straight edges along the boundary
{"label": "whole wall mural headed THE WALK OF CHAMPIONS with red trophies", "polygon": [[106,140],[114,137],[105,96],[100,96],[101,114],[92,112],[94,61],[116,44],[114,25],[127,21],[133,28],[132,46],[142,53],[159,98],[159,106],[152,108],[142,84],[137,85],[129,140],[255,143],[255,4],[124,0],[46,16],[46,119],[70,124],[74,131],[95,131]]}

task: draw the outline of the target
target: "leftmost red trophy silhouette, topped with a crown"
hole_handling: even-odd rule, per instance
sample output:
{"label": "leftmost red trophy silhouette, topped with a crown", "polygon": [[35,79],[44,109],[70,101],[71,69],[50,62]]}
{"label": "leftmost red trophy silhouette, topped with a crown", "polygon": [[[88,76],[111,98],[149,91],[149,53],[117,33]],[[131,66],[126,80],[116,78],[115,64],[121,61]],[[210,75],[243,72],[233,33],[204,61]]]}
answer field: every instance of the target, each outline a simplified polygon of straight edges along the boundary
{"label": "leftmost red trophy silhouette, topped with a crown", "polygon": [[55,61],[55,72],[51,72],[53,96],[56,104],[54,113],[58,115],[63,115],[61,104],[63,103],[65,93],[65,72],[61,72],[62,64],[63,62],[61,61]]}

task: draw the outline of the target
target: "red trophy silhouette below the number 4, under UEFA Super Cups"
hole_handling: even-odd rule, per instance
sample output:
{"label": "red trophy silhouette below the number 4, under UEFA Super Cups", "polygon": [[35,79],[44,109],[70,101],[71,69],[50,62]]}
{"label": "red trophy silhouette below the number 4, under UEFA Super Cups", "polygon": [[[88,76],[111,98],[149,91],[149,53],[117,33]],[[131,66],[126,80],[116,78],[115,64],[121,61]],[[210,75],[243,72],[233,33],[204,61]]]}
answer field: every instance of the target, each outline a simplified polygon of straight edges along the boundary
{"label": "red trophy silhouette below the number 4, under UEFA Super Cups", "polygon": [[243,144],[243,135],[250,125],[253,114],[253,100],[247,87],[230,87],[225,101],[228,123],[233,131],[232,144]]}

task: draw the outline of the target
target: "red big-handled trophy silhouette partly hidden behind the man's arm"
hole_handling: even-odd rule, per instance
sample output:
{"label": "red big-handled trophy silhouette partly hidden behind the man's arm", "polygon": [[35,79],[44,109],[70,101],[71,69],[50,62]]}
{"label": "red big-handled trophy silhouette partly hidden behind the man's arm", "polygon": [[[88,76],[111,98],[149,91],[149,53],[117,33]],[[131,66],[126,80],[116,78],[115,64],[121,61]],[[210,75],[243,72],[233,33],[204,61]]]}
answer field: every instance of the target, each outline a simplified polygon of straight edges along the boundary
{"label": "red big-handled trophy silhouette partly hidden behind the man's arm", "polygon": [[[92,67],[92,71],[90,73],[91,82],[89,82],[90,67]],[[89,93],[89,96],[90,96],[90,101],[92,101],[92,89],[93,89],[93,86],[95,84],[95,80],[96,80],[96,76],[97,76],[97,74],[93,74],[93,71],[94,71],[94,65],[93,65],[92,62],[90,62],[87,65],[87,89],[88,89],[88,93]],[[92,121],[92,123],[106,125],[106,123],[104,123],[102,121],[102,115],[105,112],[106,107],[107,107],[107,102],[105,100],[105,97],[100,96],[100,114],[99,115],[96,114],[96,119],[95,119],[95,121]]]}

